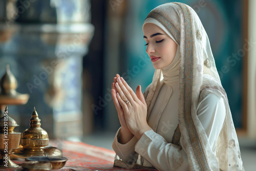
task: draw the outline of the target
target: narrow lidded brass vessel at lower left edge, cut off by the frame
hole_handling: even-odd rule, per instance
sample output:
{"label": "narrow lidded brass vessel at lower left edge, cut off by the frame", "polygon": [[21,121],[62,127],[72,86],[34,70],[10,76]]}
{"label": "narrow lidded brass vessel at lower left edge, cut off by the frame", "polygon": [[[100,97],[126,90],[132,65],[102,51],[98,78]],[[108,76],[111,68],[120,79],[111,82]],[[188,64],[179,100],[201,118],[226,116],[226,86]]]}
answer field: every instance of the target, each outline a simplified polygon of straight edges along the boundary
{"label": "narrow lidded brass vessel at lower left edge, cut off by the frame", "polygon": [[18,126],[16,121],[8,116],[8,108],[6,106],[4,116],[0,118],[0,168],[18,167],[17,164],[10,160],[12,150],[19,146],[20,133],[14,132],[16,126]]}

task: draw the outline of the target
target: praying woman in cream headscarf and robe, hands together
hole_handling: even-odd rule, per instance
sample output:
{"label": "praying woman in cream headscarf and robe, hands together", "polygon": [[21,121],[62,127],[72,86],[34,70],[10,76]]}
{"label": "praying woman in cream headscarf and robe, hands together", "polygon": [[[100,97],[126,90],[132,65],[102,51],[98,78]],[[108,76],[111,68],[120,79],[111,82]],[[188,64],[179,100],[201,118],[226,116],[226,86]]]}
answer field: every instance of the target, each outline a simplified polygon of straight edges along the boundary
{"label": "praying woman in cream headscarf and robe, hands together", "polygon": [[136,94],[117,74],[112,83],[120,129],[114,165],[159,170],[244,170],[228,100],[207,34],[182,3],[153,9],[143,24],[156,69]]}

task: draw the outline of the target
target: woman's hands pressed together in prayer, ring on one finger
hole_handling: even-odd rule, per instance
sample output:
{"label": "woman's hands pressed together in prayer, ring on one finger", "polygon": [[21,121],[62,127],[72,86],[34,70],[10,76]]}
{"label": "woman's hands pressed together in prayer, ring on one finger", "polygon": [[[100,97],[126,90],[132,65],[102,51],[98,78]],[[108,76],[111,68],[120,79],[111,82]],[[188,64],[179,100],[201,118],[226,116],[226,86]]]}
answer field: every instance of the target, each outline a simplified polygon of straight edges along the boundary
{"label": "woman's hands pressed together in prayer, ring on one finger", "polygon": [[111,93],[121,124],[120,143],[129,142],[133,136],[140,139],[144,132],[151,130],[146,122],[147,106],[141,86],[137,87],[135,94],[126,81],[116,74]]}

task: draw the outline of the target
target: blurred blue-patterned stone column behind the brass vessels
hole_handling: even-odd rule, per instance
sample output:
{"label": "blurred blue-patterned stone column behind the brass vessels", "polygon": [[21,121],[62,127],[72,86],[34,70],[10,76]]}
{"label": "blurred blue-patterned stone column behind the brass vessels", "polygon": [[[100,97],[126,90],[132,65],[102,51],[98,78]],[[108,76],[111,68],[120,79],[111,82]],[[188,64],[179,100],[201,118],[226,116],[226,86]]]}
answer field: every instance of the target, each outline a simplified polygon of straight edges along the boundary
{"label": "blurred blue-patterned stone column behind the brass vessels", "polygon": [[35,106],[50,138],[79,139],[83,130],[82,58],[94,33],[90,3],[27,0],[15,7],[16,15],[5,14],[0,23],[0,74],[9,64],[17,91],[30,95],[26,105],[9,107],[20,118],[20,131],[29,126]]}

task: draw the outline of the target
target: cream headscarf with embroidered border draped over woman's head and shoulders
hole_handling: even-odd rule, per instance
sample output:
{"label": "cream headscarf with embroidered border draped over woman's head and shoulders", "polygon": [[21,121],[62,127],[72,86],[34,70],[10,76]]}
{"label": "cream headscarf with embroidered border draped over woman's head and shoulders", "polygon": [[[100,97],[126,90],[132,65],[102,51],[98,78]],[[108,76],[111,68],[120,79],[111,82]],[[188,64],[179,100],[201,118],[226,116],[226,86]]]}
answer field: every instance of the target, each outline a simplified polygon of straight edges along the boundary
{"label": "cream headscarf with embroidered border draped over woman's head and shoulders", "polygon": [[[179,129],[190,170],[244,170],[238,138],[225,90],[222,87],[208,36],[197,13],[183,3],[166,3],[154,8],[146,17],[161,23],[180,46]],[[147,115],[160,91],[161,70],[155,70],[144,97]],[[200,99],[208,93],[223,97],[226,118],[217,139],[216,154],[197,116]]]}

